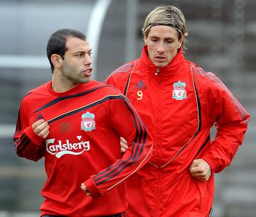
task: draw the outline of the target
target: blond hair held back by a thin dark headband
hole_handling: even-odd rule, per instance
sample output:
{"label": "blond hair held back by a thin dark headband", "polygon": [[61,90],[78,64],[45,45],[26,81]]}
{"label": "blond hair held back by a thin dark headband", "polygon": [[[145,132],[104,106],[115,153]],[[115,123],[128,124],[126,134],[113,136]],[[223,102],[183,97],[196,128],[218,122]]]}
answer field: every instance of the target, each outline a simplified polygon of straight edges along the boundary
{"label": "blond hair held back by a thin dark headband", "polygon": [[186,49],[186,19],[180,9],[176,6],[161,5],[151,11],[144,21],[142,33],[147,37],[152,26],[171,26],[178,31],[178,39],[182,36],[182,48]]}

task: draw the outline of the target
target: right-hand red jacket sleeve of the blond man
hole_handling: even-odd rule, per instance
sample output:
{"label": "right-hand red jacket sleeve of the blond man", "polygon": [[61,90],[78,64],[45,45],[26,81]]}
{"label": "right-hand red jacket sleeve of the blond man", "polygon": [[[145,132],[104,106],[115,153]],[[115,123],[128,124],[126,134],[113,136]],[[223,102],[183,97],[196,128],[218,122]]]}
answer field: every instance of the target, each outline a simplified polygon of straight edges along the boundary
{"label": "right-hand red jacket sleeve of the blond man", "polygon": [[217,77],[214,79],[216,85],[208,91],[206,104],[210,122],[215,123],[217,133],[202,158],[213,172],[220,172],[230,165],[242,144],[250,114]]}

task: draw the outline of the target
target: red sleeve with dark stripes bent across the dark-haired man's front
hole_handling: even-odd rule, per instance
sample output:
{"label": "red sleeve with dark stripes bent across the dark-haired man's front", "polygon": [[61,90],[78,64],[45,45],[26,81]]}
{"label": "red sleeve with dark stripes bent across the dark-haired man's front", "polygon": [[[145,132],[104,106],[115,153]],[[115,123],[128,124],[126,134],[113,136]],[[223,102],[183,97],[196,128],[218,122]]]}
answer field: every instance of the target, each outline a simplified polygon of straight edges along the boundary
{"label": "red sleeve with dark stripes bent across the dark-haired man's front", "polygon": [[110,126],[127,140],[129,148],[121,159],[85,182],[92,197],[116,187],[143,167],[153,149],[151,136],[127,98],[110,101]]}

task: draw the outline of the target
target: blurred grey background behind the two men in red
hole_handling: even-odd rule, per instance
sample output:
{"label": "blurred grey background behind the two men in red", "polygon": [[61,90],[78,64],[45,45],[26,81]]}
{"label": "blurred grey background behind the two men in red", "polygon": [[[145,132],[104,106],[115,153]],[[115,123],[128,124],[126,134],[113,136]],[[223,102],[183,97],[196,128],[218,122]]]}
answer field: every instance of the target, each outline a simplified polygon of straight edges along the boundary
{"label": "blurred grey background behind the two men in red", "polygon": [[51,78],[50,34],[59,28],[86,33],[94,79],[102,81],[139,57],[144,18],[166,3],[178,5],[186,16],[186,58],[215,72],[251,113],[233,164],[215,176],[213,216],[256,216],[256,1],[0,0],[0,217],[39,216],[43,160],[17,157],[12,135],[23,94]]}

